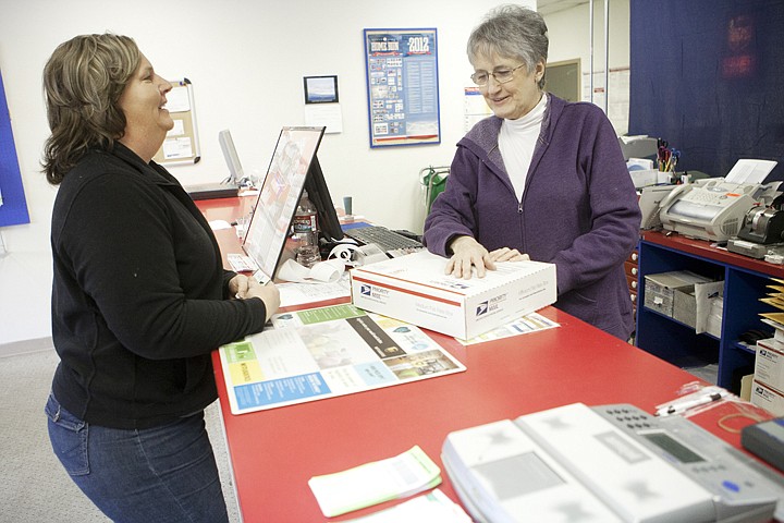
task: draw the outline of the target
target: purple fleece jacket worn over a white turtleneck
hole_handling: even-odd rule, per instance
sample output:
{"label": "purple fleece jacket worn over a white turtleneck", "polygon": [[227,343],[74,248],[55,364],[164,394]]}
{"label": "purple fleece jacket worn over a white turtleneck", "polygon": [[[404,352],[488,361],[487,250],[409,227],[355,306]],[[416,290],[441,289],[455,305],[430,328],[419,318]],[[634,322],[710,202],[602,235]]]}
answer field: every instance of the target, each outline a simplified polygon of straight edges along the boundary
{"label": "purple fleece jacket worn over a white turtleneck", "polygon": [[595,105],[552,95],[515,196],[498,146],[502,119],[477,123],[457,144],[444,192],[425,222],[442,256],[455,235],[488,251],[517,248],[555,264],[555,306],[627,340],[634,330],[624,260],[637,244],[640,210],[617,136]]}

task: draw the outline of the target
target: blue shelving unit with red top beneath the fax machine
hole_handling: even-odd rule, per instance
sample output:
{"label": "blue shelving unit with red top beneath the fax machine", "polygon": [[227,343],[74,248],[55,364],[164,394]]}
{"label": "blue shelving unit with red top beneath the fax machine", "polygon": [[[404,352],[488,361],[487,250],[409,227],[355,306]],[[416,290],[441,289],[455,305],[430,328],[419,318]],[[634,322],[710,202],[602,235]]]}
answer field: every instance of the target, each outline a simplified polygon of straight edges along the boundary
{"label": "blue shelving unit with red top beneath the fax machine", "polygon": [[[693,327],[645,306],[645,277],[690,270],[724,280],[721,338],[697,335]],[[772,329],[759,314],[774,308],[760,302],[771,278],[784,279],[784,267],[711,247],[708,242],[647,232],[639,244],[639,300],[636,344],[674,365],[688,368],[719,364],[718,385],[739,392],[740,376],[754,372],[755,352],[739,341],[750,329]]]}

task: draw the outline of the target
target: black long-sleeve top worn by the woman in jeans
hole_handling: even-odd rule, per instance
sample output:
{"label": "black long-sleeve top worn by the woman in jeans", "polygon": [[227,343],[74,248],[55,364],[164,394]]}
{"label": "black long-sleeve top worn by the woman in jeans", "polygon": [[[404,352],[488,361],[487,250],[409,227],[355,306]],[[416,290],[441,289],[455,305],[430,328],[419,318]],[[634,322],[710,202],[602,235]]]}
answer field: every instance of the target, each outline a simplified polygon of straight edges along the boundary
{"label": "black long-sleeve top worn by the woman in jeans", "polygon": [[147,428],[216,397],[210,352],[264,328],[180,183],[131,149],[93,150],[61,183],[51,223],[52,391],[100,426]]}

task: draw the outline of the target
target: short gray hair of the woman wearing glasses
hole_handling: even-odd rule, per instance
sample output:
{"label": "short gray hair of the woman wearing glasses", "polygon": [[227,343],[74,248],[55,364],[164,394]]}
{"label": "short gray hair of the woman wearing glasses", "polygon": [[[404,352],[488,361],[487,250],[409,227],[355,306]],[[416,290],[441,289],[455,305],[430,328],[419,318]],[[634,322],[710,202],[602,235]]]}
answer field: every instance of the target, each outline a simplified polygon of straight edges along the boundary
{"label": "short gray hair of the woman wearing glasses", "polygon": [[[480,54],[519,59],[530,74],[540,61],[547,63],[550,40],[547,24],[536,11],[515,4],[499,5],[490,11],[468,37],[468,61]],[[544,87],[544,77],[539,88]]]}

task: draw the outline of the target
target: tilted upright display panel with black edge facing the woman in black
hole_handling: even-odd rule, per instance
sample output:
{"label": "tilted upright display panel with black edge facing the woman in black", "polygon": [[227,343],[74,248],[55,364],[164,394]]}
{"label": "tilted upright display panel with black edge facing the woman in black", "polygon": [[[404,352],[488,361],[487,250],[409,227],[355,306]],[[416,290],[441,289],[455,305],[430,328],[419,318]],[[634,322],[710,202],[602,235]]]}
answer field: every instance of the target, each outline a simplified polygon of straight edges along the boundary
{"label": "tilted upright display panel with black edge facing the woman in black", "polygon": [[283,127],[275,145],[243,248],[268,278],[274,278],[299,196],[324,127]]}

